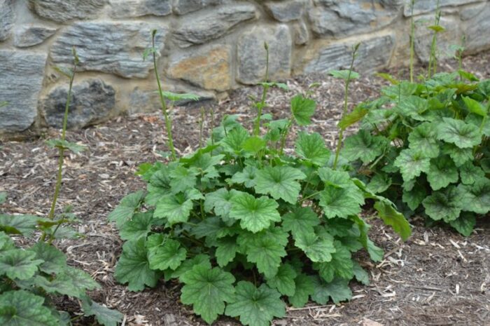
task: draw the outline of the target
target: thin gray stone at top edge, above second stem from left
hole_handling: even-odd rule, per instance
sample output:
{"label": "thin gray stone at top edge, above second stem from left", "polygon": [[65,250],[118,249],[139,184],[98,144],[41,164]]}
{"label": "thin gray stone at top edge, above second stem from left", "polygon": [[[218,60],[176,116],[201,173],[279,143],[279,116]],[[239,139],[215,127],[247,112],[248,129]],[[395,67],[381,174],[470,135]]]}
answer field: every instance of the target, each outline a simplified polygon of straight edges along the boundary
{"label": "thin gray stone at top edge, above second stem from left", "polygon": [[165,16],[172,13],[171,0],[110,0],[110,4],[113,18]]}

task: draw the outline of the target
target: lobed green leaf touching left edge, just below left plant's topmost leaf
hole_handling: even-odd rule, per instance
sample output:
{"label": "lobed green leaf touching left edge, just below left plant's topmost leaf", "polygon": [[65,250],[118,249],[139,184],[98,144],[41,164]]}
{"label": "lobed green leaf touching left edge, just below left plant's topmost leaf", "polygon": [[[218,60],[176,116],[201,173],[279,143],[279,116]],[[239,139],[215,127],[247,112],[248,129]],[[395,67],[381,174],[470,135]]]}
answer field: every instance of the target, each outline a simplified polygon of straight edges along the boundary
{"label": "lobed green leaf touching left edge, just below left plant's topmost leaf", "polygon": [[36,259],[36,253],[22,249],[0,252],[0,276],[27,280],[38,271],[43,260]]}

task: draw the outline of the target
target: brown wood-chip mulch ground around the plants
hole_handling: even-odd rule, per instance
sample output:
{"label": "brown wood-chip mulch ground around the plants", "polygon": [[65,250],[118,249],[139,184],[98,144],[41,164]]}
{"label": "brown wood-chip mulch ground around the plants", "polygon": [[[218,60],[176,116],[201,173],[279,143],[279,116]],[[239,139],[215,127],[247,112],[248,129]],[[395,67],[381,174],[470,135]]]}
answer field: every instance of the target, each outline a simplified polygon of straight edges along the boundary
{"label": "brown wood-chip mulch ground around the plants", "polygon": [[[444,62],[441,69],[454,69],[455,62]],[[465,58],[465,69],[480,78],[490,78],[490,53]],[[423,67],[419,67],[423,69]],[[421,70],[419,70],[421,71]],[[391,69],[406,78],[407,69]],[[286,81],[290,91],[273,89],[267,112],[274,118],[286,116],[290,98],[318,82],[313,96],[318,102],[314,124],[330,147],[335,144],[335,127],[342,111],[342,82],[325,75],[298,76]],[[350,104],[377,96],[386,82],[366,76],[351,84]],[[219,121],[224,114],[238,114],[241,121],[255,115],[249,95],[259,96],[260,88],[243,88],[228,100],[212,104]],[[211,128],[210,106],[204,122],[204,137]],[[174,138],[179,153],[186,154],[199,144],[200,109],[176,107],[173,111]],[[125,313],[124,325],[205,325],[189,306],[179,303],[177,283],[160,283],[155,289],[129,292],[113,278],[123,242],[107,215],[127,193],[145,184],[134,175],[137,166],[162,158],[167,140],[160,114],[139,114],[117,118],[103,125],[67,133],[71,142],[81,142],[90,150],[67,154],[59,208],[73,206],[80,219],[78,240],[62,240],[58,247],[66,252],[69,264],[92,274],[102,285],[92,292],[98,301]],[[297,131],[297,129],[295,129]],[[58,137],[49,130],[29,142],[0,143],[0,191],[8,192],[3,212],[46,215],[50,207],[57,170],[57,151],[48,149],[45,139]],[[288,308],[286,318],[273,325],[490,325],[490,225],[480,219],[468,238],[440,226],[426,228],[421,218],[412,219],[413,236],[403,243],[391,229],[373,219],[371,236],[386,254],[379,264],[365,257],[369,286],[352,284],[353,299],[335,306],[310,303],[306,308]],[[73,313],[78,306],[69,298],[58,304]],[[94,325],[80,318],[78,325]],[[237,320],[221,318],[216,325],[239,325]]]}

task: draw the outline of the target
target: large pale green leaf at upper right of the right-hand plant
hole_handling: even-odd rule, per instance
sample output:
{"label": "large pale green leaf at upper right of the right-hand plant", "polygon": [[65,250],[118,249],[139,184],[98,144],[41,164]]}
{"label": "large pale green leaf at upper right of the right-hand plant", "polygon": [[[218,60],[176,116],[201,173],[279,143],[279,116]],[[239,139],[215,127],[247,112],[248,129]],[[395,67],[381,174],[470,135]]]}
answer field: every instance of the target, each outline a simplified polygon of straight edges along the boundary
{"label": "large pale green leaf at upper right of the right-hand plant", "polygon": [[478,128],[454,118],[442,118],[443,123],[437,125],[437,139],[454,143],[461,149],[474,147],[482,142]]}

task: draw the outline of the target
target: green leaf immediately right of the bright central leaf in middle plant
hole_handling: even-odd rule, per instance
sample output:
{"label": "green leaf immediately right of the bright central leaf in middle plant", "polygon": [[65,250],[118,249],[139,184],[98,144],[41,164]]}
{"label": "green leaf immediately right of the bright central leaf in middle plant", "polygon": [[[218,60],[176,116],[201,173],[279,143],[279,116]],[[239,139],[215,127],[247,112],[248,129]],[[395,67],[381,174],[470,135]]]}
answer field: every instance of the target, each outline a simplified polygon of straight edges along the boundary
{"label": "green leaf immediately right of the bright central leaf in middle plant", "polygon": [[295,208],[282,217],[282,229],[290,231],[293,238],[314,233],[314,226],[320,224],[320,218],[309,207]]}

